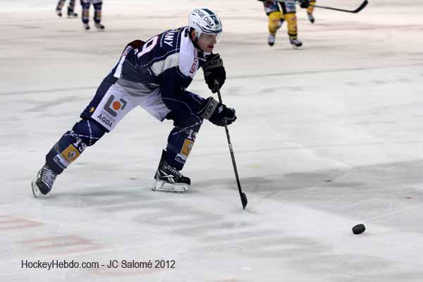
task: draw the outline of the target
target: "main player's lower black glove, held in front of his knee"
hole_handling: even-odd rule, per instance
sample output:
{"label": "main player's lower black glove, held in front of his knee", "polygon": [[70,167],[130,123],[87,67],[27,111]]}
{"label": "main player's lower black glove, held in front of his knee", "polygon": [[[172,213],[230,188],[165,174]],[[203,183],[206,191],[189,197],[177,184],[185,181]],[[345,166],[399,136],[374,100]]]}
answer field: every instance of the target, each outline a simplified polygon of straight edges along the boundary
{"label": "main player's lower black glove, held in front of his knee", "polygon": [[230,125],[236,121],[235,109],[228,108],[224,104],[217,102],[213,97],[207,99],[204,108],[197,114],[218,126]]}

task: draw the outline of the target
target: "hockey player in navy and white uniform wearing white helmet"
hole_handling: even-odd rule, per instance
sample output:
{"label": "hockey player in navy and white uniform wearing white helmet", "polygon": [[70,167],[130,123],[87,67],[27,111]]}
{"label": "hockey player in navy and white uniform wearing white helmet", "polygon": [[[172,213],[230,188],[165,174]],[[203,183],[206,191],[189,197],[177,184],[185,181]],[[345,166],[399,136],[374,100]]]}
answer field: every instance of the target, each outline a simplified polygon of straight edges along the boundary
{"label": "hockey player in navy and white uniform wearing white helmet", "polygon": [[32,182],[35,197],[46,195],[56,176],[86,147],[113,130],[135,106],[142,106],[159,121],[173,120],[174,128],[161,154],[152,190],[187,191],[190,178],[180,171],[203,120],[223,126],[236,119],[234,109],[213,97],[204,99],[186,90],[200,67],[212,92],[225,82],[223,62],[219,54],[212,54],[221,33],[219,16],[208,8],[199,8],[190,13],[187,27],[168,30],[147,42],[130,42],[82,111],[82,119],[47,153],[46,163]]}

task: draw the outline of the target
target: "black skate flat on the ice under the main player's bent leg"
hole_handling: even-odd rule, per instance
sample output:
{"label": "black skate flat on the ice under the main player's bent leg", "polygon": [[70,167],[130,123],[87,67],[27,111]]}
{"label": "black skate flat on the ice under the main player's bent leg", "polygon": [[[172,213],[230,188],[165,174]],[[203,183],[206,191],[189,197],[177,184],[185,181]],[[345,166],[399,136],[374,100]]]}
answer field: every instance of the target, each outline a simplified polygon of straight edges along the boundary
{"label": "black skate flat on the ice under the main player's bent leg", "polygon": [[159,168],[154,176],[153,191],[186,192],[190,189],[191,180],[170,166],[164,158],[166,151],[161,154]]}

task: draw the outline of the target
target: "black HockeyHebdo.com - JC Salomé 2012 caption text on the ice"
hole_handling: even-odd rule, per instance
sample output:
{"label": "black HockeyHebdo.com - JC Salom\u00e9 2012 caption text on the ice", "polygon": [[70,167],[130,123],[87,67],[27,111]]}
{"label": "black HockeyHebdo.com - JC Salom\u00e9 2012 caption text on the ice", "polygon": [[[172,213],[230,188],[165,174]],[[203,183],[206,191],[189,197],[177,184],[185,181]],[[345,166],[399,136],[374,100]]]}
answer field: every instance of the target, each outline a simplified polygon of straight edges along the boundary
{"label": "black HockeyHebdo.com - JC Salom\u00e9 2012 caption text on the ice", "polygon": [[72,260],[51,259],[49,261],[35,260],[28,261],[27,259],[20,261],[22,269],[175,269],[176,262],[165,259],[149,259],[147,261],[135,260],[117,260],[109,259],[108,262],[77,262]]}

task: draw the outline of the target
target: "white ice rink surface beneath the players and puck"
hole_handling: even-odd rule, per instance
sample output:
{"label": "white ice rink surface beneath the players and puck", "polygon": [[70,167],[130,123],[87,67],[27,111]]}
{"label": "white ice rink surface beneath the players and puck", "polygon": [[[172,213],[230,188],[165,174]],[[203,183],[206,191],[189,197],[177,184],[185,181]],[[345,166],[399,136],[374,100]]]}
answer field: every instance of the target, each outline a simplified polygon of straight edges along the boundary
{"label": "white ice rink surface beneath the players and puck", "polygon": [[[286,25],[267,46],[267,18],[253,0],[105,0],[105,32],[58,18],[53,0],[2,0],[0,281],[423,281],[417,2],[370,0],[358,14],[316,9],[314,25],[299,10],[304,48],[293,50]],[[45,154],[125,44],[186,25],[198,6],[223,21],[216,51],[228,73],[223,101],[238,114],[229,130],[247,209],[224,130],[207,121],[183,170],[190,192],[152,192],[172,124],[141,108],[88,148],[48,197],[33,198]],[[202,71],[189,90],[210,95]],[[357,223],[367,231],[353,235]],[[161,259],[175,268],[121,265]],[[22,266],[38,260],[100,266]]]}

